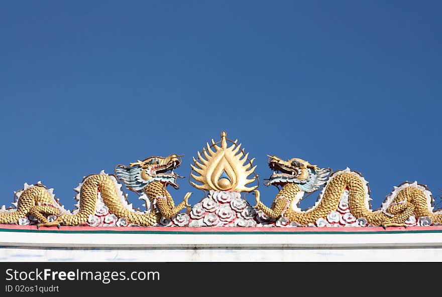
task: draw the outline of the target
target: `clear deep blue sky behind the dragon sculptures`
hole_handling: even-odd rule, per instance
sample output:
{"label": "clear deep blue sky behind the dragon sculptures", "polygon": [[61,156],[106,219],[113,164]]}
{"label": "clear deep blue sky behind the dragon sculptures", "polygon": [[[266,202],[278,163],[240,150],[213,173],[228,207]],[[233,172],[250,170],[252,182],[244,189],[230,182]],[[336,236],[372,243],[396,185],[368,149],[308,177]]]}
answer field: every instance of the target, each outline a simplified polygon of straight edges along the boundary
{"label": "clear deep blue sky behind the dragon sculptures", "polygon": [[[152,155],[185,154],[187,177],[222,130],[256,157],[261,182],[276,154],[360,171],[374,208],[405,180],[436,196],[441,10],[439,1],[1,2],[0,205],[41,180],[72,208],[83,176]],[[175,201],[202,198],[179,181]],[[270,204],[276,188],[259,189]]]}

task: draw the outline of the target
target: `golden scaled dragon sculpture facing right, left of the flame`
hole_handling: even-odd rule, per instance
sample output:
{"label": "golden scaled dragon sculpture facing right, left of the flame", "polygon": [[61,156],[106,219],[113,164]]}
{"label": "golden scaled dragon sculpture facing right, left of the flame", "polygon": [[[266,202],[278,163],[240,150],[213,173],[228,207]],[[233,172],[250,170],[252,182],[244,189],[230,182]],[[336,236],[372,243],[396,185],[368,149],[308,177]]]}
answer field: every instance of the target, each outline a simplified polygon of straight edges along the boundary
{"label": "golden scaled dragon sculpture facing right, left of the flame", "polygon": [[[16,192],[16,196],[19,196],[17,209],[0,212],[0,223],[17,223],[20,219],[32,215],[39,222],[37,227],[60,226],[60,224],[79,225],[85,223],[88,217],[94,214],[97,192],[99,192],[111,213],[126,218],[132,224],[154,225],[162,217],[170,218],[181,209],[190,207],[188,204],[190,192],[184,196],[181,203],[175,206],[171,195],[166,190],[167,185],[179,187],[176,183],[176,178],[179,176],[173,172],[173,169],[178,167],[180,163],[180,156],[172,154],[166,158],[150,157],[143,161],[130,163],[129,166],[116,166],[115,172],[118,179],[123,181],[129,189],[147,195],[151,205],[154,206],[149,213],[128,207],[124,201],[125,197],[118,193],[118,181],[115,176],[93,174],[83,179],[79,193],[79,208],[72,213],[64,210],[64,207],[53,196],[52,191],[38,183]],[[56,219],[49,221],[48,216],[56,216]]]}

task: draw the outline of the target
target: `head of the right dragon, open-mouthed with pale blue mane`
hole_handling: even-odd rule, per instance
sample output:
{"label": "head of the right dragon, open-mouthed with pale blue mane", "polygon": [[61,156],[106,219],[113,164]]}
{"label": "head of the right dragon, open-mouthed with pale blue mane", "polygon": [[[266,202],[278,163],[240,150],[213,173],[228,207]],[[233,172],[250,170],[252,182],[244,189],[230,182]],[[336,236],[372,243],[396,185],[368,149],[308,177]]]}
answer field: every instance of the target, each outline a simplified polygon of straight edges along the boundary
{"label": "head of the right dragon, open-mouthed with pale blue mane", "polygon": [[329,168],[319,168],[305,160],[292,158],[287,161],[277,156],[269,156],[269,167],[274,170],[266,185],[284,186],[295,183],[306,193],[319,189],[327,180],[331,172]]}

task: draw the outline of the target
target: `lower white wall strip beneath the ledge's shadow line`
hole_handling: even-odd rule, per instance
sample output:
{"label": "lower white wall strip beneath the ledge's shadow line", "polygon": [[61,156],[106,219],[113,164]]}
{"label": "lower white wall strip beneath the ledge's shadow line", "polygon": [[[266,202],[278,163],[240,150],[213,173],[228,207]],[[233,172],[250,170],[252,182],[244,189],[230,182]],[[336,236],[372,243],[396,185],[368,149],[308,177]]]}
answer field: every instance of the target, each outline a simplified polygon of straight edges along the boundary
{"label": "lower white wall strip beneath the ledge's shadow line", "polygon": [[441,261],[442,248],[1,248],[0,261]]}

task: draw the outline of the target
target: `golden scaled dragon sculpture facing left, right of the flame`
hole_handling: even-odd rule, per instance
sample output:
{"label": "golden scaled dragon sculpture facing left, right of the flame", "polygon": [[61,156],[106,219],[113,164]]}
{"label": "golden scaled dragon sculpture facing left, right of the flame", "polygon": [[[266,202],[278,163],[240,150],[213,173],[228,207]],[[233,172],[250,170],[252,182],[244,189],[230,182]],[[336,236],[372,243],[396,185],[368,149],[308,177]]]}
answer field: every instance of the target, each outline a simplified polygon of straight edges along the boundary
{"label": "golden scaled dragon sculpture facing left, right of the flame", "polygon": [[[330,169],[319,168],[298,158],[282,160],[268,156],[268,164],[274,173],[267,185],[281,186],[271,207],[260,201],[255,191],[255,208],[272,218],[287,217],[301,225],[314,224],[338,209],[344,191],[348,191],[348,206],[355,217],[365,218],[368,224],[376,226],[404,226],[411,216],[429,217],[433,223],[442,223],[442,211],[432,211],[433,199],[426,186],[405,182],[395,187],[378,210],[372,210],[369,201],[370,190],[364,177],[350,169],[331,173]],[[323,186],[314,206],[300,210],[299,202],[304,193],[312,193]]]}

